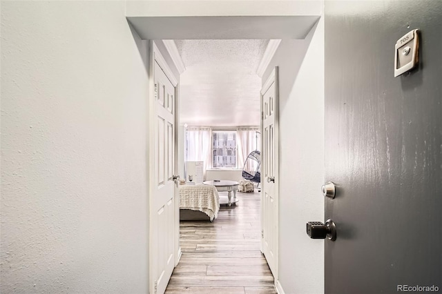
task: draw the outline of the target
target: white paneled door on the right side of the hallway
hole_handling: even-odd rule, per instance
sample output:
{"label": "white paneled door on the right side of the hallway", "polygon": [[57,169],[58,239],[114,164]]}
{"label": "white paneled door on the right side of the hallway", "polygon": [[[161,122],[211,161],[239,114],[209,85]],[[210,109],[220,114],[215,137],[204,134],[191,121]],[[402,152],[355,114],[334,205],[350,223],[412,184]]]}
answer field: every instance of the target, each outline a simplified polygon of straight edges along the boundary
{"label": "white paneled door on the right side of the hallway", "polygon": [[261,90],[262,157],[261,218],[262,253],[278,280],[278,68]]}

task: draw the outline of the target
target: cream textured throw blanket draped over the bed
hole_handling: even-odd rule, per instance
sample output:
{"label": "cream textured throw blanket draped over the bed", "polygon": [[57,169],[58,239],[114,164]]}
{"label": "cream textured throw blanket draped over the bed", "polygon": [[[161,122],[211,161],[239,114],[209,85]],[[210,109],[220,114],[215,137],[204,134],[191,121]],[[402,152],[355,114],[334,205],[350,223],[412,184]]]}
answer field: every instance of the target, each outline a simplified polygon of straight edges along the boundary
{"label": "cream textured throw blanket draped over the bed", "polygon": [[180,186],[180,208],[201,211],[213,221],[220,210],[220,196],[212,185]]}

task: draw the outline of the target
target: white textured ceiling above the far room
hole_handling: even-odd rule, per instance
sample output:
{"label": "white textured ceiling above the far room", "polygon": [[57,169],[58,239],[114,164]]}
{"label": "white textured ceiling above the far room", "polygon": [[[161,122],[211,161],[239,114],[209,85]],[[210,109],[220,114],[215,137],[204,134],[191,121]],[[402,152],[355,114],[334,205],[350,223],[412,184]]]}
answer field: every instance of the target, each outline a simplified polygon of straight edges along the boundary
{"label": "white textured ceiling above the far room", "polygon": [[256,69],[269,40],[175,40],[180,122],[189,126],[258,126],[261,79]]}

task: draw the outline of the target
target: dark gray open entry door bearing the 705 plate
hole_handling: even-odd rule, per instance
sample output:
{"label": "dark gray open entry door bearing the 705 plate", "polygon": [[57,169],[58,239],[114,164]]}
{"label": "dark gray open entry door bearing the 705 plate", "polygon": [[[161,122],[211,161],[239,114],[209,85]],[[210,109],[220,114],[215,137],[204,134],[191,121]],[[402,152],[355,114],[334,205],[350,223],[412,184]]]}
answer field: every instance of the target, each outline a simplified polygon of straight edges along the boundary
{"label": "dark gray open entry door bearing the 705 plate", "polygon": [[[395,78],[415,28],[419,68]],[[441,138],[442,1],[325,1],[325,293],[442,291]]]}

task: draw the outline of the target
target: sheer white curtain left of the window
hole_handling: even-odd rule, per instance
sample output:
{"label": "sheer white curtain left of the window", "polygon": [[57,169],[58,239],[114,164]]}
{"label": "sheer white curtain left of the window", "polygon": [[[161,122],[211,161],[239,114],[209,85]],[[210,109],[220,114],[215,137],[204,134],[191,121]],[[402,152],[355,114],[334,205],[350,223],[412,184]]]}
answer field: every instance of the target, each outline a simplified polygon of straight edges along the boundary
{"label": "sheer white curtain left of the window", "polygon": [[211,160],[210,128],[193,126],[186,128],[185,148],[185,161],[204,161],[203,173],[205,177]]}

